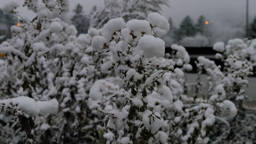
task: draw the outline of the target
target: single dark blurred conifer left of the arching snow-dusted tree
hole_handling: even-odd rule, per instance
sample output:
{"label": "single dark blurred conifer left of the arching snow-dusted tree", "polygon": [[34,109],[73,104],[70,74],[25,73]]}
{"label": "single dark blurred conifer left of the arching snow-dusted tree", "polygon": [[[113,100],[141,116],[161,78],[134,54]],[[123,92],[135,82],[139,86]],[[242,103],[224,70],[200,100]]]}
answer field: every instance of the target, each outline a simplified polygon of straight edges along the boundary
{"label": "single dark blurred conifer left of the arching snow-dusted tree", "polygon": [[87,33],[90,25],[90,18],[84,14],[83,7],[80,4],[76,5],[74,13],[75,14],[71,18],[71,22],[76,26],[78,31],[77,35]]}

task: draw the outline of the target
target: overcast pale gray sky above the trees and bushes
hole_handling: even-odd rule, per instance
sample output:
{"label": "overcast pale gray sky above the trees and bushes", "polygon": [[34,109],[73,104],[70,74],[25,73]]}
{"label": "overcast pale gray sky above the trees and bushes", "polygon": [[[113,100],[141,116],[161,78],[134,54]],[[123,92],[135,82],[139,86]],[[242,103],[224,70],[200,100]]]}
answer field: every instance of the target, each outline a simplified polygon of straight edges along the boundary
{"label": "overcast pale gray sky above the trees and bushes", "polygon": [[[0,7],[11,0],[0,0]],[[24,0],[12,0],[20,3]],[[71,2],[72,1],[72,2]],[[172,17],[174,24],[180,24],[181,20],[190,15],[194,20],[201,14],[206,16],[210,22],[219,23],[223,25],[240,25],[245,24],[246,0],[169,0],[171,7],[163,7],[162,14],[168,18]],[[256,0],[249,0],[249,15],[250,20],[256,16]],[[92,6],[103,6],[103,0],[70,0],[70,12],[80,3],[84,6],[86,13],[90,12]],[[34,18],[34,14],[26,10],[26,8],[19,8],[23,17],[29,19]],[[70,16],[72,13],[69,13]]]}

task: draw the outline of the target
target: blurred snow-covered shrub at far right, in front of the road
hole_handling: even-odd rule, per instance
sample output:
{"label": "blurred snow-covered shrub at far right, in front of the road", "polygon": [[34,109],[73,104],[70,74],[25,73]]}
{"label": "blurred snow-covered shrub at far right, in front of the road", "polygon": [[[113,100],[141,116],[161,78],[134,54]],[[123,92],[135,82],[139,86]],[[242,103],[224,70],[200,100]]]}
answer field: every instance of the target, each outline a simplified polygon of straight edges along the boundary
{"label": "blurred snow-covered shrub at far right, in front of the road", "polygon": [[[223,44],[216,44],[214,49],[223,51]],[[214,106],[216,116],[215,127],[208,133],[211,143],[252,142],[255,139],[251,136],[254,131],[246,127],[249,119],[255,122],[255,116],[249,116],[243,108],[246,98],[244,86],[248,85],[246,78],[252,74],[252,66],[247,62],[237,55],[229,55],[225,60],[225,71],[222,72],[213,61],[198,57],[197,66],[200,70],[206,70],[208,75],[210,97],[207,99]],[[236,134],[235,139],[232,134]]]}

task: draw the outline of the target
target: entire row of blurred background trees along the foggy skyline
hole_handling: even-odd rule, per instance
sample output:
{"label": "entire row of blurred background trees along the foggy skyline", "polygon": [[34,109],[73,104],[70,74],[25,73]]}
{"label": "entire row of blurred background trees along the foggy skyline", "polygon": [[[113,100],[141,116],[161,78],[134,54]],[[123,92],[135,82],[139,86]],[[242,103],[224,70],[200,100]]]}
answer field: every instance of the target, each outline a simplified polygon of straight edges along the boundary
{"label": "entire row of blurred background trees along the foggy skyline", "polygon": [[[74,10],[72,11],[72,16],[70,18],[70,24],[73,24],[74,26],[76,26],[76,29],[78,30],[77,36],[79,34],[87,33],[90,27],[102,28],[102,26],[112,17],[114,18],[122,15],[122,14],[119,14],[119,15],[117,14],[117,16],[115,16],[115,14],[113,14],[115,12],[113,11],[113,7],[117,7],[115,13],[118,13],[117,11],[119,10],[119,8],[120,9],[124,8],[124,11],[127,9],[126,11],[133,13],[132,14],[133,16],[131,15],[123,16],[124,20],[126,21],[130,20],[129,18],[144,19],[143,14],[139,14],[136,11],[144,10],[144,15],[147,14],[146,7],[140,10],[136,10],[135,7],[131,7],[129,9],[124,7],[128,4],[129,0],[125,0],[123,2],[123,5],[121,4],[115,5],[116,1],[118,0],[105,0],[104,10],[99,10],[97,6],[93,6],[88,14],[84,12],[83,6],[81,6],[80,4],[77,4]],[[163,0],[162,4],[165,5],[165,2],[166,0]],[[140,2],[138,0],[134,4],[136,4],[137,6],[140,6]],[[152,3],[152,5],[154,5],[154,3]],[[150,10],[150,11],[158,11],[158,10]],[[216,42],[215,39],[217,36],[214,37],[212,35],[212,33],[215,32],[215,30],[213,30],[212,28],[212,22],[206,25],[205,22],[210,20],[208,20],[203,15],[199,16],[196,21],[194,21],[188,15],[185,18],[183,18],[182,22],[180,22],[178,26],[174,26],[174,22],[171,17],[169,17],[168,21],[170,24],[170,31],[166,34],[166,36],[162,37],[162,39],[166,43],[166,46],[170,46],[170,44],[176,43],[176,44],[181,44],[183,46],[200,47],[200,46],[212,46]],[[5,40],[6,38],[10,38],[10,26],[16,25],[16,18],[11,14],[9,15],[2,14],[2,10],[0,9],[0,22],[1,22],[0,25],[6,24],[7,26],[6,30],[1,30],[0,28],[0,36],[2,36],[0,37],[0,42],[1,42],[1,38],[2,38],[2,41]],[[244,32],[242,33],[244,37],[245,30],[243,31]],[[235,35],[236,33],[237,32],[234,32],[234,34],[232,33],[230,35]],[[248,30],[248,38],[249,39],[256,38],[256,16],[254,17],[252,22],[250,22],[249,30]]]}

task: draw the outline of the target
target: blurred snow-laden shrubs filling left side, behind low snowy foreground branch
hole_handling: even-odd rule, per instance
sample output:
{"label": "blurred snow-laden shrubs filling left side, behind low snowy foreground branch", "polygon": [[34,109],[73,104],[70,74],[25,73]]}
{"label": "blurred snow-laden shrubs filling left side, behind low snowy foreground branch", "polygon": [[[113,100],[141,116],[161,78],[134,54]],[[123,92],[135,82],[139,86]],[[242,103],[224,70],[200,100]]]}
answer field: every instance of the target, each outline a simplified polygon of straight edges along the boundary
{"label": "blurred snow-laden shrubs filling left side, behind low snowy foreground branch", "polygon": [[[77,37],[74,26],[59,18],[51,18],[55,10],[66,12],[68,2],[25,1],[25,6],[37,13],[36,18],[32,21],[20,18],[21,26],[12,26],[12,38],[0,45],[0,52],[6,54],[0,70],[0,88],[4,98],[23,95],[36,101],[56,98],[60,104],[58,114],[40,114],[33,119],[34,142],[78,141],[84,137],[85,130],[88,130],[88,135],[91,131],[96,133],[101,124],[94,120],[97,116],[88,110],[87,99],[92,84],[106,76],[100,72],[100,66],[109,58],[91,47],[92,38],[100,34],[98,30],[92,28],[88,34]],[[10,12],[18,14],[15,9]],[[20,138],[21,130],[16,128],[18,123],[14,118],[10,119],[5,129],[11,131],[15,126],[16,141],[26,141]],[[92,126],[94,122],[98,123],[97,128],[84,127]],[[88,136],[83,141],[90,140],[97,141],[97,138]],[[13,141],[4,143],[10,142]]]}

